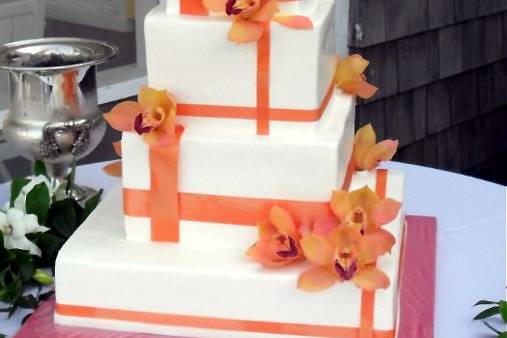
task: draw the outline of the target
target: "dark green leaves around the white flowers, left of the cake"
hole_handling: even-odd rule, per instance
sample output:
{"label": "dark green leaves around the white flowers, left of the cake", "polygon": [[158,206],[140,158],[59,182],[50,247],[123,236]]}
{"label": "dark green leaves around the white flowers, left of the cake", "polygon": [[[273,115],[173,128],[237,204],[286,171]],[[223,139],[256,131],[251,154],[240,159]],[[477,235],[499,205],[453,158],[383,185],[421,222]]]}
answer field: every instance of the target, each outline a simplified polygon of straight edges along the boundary
{"label": "dark green leaves around the white flowers, left of the cake", "polygon": [[[35,163],[34,173],[46,176],[42,162]],[[73,184],[74,175],[75,171],[73,170],[69,176],[70,184]],[[11,207],[14,206],[16,198],[28,183],[30,180],[27,178],[16,178],[12,181]],[[53,291],[37,295],[24,292],[25,288],[30,285],[38,286],[40,292],[42,286],[52,284],[52,276],[43,269],[54,271],[58,251],[92,213],[100,202],[101,196],[102,190],[89,198],[84,206],[81,206],[70,198],[52,201],[45,183],[37,184],[30,190],[26,196],[26,212],[36,215],[39,224],[50,230],[26,236],[41,249],[41,257],[33,256],[26,250],[5,249],[3,234],[0,232],[0,302],[7,304],[7,307],[0,309],[0,312],[6,312],[12,316],[18,308],[36,309],[41,301],[45,301],[53,295]],[[24,320],[27,318],[28,316]],[[0,338],[2,337],[4,336],[0,334]]]}

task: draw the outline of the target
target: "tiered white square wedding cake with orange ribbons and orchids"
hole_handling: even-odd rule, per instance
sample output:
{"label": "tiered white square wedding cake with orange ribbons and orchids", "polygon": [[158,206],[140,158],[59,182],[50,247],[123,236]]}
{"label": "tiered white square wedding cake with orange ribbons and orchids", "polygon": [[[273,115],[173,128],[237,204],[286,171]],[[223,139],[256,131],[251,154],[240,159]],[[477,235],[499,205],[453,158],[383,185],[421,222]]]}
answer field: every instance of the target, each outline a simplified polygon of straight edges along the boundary
{"label": "tiered white square wedding cake with orange ribbons and orchids", "polygon": [[[55,321],[189,337],[394,338],[404,176],[354,136],[368,62],[334,0],[169,0],[111,191],[59,253]],[[120,170],[121,169],[121,170]]]}

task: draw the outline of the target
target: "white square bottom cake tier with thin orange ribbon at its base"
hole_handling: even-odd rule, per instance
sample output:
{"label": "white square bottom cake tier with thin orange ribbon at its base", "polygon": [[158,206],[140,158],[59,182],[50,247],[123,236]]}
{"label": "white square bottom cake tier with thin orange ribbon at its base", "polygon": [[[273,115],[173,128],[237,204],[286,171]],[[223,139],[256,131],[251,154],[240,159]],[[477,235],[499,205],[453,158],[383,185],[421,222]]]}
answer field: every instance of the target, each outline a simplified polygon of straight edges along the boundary
{"label": "white square bottom cake tier with thin orange ribbon at its base", "polygon": [[[373,188],[375,177],[358,173],[351,189]],[[386,196],[403,201],[403,174],[387,177]],[[396,337],[402,213],[385,226],[397,239],[391,255],[377,262],[388,289],[342,283],[309,293],[296,287],[306,263],[267,270],[245,256],[256,227],[182,221],[185,244],[131,242],[121,200],[118,186],[60,251],[56,323],[184,337],[355,338],[370,322],[372,338]]]}

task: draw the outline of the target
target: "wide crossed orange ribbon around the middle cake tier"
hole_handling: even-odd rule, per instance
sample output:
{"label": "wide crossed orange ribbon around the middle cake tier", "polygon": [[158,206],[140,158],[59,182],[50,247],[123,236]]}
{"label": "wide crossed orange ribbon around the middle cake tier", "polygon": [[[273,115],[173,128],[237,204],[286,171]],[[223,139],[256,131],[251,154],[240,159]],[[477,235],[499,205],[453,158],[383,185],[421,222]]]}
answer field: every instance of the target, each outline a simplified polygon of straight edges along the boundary
{"label": "wide crossed orange ribbon around the middle cake tier", "polygon": [[[177,242],[179,220],[255,226],[267,219],[273,205],[285,208],[298,223],[313,223],[331,215],[329,203],[262,198],[217,196],[178,192],[178,141],[169,151],[150,148],[151,190],[123,189],[123,212],[134,217],[150,217],[152,240]],[[348,190],[354,165],[352,160],[342,189]]]}

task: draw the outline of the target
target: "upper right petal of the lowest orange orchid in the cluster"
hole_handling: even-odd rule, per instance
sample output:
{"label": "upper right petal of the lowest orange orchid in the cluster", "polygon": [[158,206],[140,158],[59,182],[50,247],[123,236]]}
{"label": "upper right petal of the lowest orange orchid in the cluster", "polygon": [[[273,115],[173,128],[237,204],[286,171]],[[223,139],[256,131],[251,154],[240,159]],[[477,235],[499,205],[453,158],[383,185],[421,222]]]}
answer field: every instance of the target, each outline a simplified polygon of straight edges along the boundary
{"label": "upper right petal of the lowest orange orchid in the cluster", "polygon": [[359,255],[363,264],[371,264],[377,261],[377,258],[391,252],[396,238],[383,229],[376,229],[367,232],[359,243]]}

